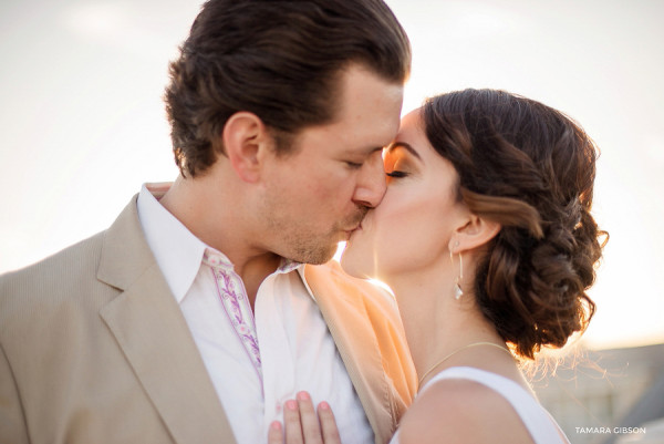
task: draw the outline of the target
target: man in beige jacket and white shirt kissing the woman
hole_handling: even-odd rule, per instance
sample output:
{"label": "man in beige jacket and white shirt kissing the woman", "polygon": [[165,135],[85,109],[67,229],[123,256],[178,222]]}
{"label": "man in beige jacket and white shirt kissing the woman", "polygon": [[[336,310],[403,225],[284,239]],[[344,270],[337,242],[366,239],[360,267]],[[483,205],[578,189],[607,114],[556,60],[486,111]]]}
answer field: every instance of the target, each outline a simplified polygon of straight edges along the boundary
{"label": "man in beige jacket and white shirt kissing the woman", "polygon": [[181,175],[0,279],[0,443],[260,443],[303,390],[386,442],[394,303],[321,264],[382,199],[408,70],[380,0],[208,1],[166,91]]}

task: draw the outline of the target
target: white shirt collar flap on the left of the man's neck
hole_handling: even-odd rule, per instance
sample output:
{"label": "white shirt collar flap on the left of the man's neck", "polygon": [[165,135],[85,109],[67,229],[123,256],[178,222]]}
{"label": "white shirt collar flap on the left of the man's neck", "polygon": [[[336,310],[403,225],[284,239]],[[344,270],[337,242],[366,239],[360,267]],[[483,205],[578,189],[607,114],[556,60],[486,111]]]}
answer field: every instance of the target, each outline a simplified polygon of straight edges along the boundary
{"label": "white shirt collar flap on the left of the man's neck", "polygon": [[138,195],[138,219],[143,233],[173,296],[179,303],[200,268],[207,246],[173,216],[157,197],[163,184],[144,184]]}

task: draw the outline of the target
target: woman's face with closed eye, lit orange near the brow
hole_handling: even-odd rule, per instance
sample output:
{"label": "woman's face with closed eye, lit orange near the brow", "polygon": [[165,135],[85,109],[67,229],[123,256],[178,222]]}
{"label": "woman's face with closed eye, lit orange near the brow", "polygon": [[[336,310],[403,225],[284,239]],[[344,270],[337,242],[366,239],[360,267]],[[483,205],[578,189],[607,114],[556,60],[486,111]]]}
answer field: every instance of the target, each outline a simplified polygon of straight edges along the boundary
{"label": "woman's face with closed eye, lit orange near the brow", "polygon": [[430,146],[419,112],[403,118],[385,149],[385,197],[352,234],[341,259],[352,276],[390,283],[397,275],[449,264],[448,245],[464,204],[455,198],[457,173]]}

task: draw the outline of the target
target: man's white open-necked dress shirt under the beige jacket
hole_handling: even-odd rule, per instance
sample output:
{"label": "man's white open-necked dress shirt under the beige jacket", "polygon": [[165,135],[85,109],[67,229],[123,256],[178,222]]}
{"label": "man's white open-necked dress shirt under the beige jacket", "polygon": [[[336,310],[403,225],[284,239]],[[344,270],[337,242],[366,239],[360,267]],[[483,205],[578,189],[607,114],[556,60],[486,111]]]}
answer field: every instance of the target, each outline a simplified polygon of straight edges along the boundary
{"label": "man's white open-necked dress shirt under the beige jacket", "polygon": [[[243,285],[232,265],[177,220],[144,185],[138,217],[147,244],[179,303],[238,444],[266,443],[268,427],[283,421],[282,405],[299,391],[314,404],[326,401],[344,444],[372,443],[373,431],[311,290],[303,265],[283,261],[260,285],[250,313]],[[224,227],[219,227],[224,229]],[[215,267],[219,262],[228,267]],[[217,271],[214,271],[217,270]],[[224,271],[226,270],[226,271]],[[216,275],[217,273],[217,275]],[[232,279],[232,307],[222,301],[219,279]],[[228,282],[227,282],[228,283]],[[238,288],[239,287],[239,288]],[[238,327],[231,310],[243,316]],[[258,342],[243,341],[238,331]]]}

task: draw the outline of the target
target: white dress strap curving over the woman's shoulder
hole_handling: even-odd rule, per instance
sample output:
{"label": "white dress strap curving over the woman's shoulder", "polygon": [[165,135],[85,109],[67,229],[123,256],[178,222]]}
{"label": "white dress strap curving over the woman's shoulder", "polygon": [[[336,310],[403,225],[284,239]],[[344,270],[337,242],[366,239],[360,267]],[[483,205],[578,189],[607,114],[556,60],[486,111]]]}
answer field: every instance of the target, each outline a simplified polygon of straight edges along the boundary
{"label": "white dress strap curving over the woman's shoulder", "polygon": [[[532,394],[515,381],[496,373],[470,366],[453,366],[432,378],[424,384],[418,395],[436,382],[452,379],[475,381],[502,395],[515,409],[536,444],[569,444],[556,421]],[[398,430],[390,444],[400,444]]]}

